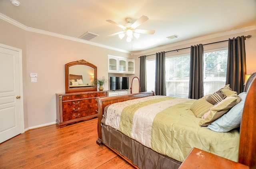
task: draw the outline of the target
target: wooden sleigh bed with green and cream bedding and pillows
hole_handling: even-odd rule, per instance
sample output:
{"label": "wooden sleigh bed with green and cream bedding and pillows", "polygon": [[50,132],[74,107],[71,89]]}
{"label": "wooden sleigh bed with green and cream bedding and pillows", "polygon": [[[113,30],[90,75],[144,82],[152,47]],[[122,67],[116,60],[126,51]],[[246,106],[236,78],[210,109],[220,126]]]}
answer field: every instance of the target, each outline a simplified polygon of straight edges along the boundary
{"label": "wooden sleigh bed with green and cream bedding and pillows", "polygon": [[[220,90],[226,96],[211,103],[213,106],[209,109],[200,109],[199,114],[197,104],[207,107],[201,104],[200,99],[154,96],[154,92],[97,98],[96,142],[106,145],[134,167],[142,169],[178,169],[193,147],[253,167],[256,165],[255,76],[256,73],[251,75],[245,92],[241,94],[224,86]],[[204,96],[201,100],[207,98],[209,102],[213,95]],[[242,119],[238,120],[240,128],[232,126],[230,131],[218,131],[226,129],[216,127],[218,123],[215,122],[228,118],[231,112],[238,112],[238,108],[242,112],[238,114]]]}

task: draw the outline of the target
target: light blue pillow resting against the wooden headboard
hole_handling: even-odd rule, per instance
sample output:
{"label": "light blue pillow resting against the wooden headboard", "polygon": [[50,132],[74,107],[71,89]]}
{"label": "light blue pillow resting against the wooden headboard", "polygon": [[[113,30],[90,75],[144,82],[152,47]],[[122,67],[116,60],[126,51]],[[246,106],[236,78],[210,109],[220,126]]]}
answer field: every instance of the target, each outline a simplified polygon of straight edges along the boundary
{"label": "light blue pillow resting against the wooden headboard", "polygon": [[232,107],[226,114],[209,124],[207,128],[215,132],[229,132],[238,128],[241,124],[244,102],[247,93],[242,92],[238,96],[242,99],[238,104]]}

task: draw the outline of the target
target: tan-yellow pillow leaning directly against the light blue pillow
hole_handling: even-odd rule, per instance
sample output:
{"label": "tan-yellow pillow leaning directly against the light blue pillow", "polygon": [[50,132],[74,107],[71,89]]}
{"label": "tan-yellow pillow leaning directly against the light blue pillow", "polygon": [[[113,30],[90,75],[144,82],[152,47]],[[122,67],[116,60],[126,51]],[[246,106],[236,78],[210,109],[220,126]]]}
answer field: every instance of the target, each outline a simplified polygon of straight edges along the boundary
{"label": "tan-yellow pillow leaning directly against the light blue pillow", "polygon": [[241,98],[237,96],[237,94],[224,98],[202,116],[202,120],[200,120],[199,125],[208,126],[213,121],[228,112],[228,110],[230,110],[230,108],[232,108],[234,105],[238,104],[240,100]]}

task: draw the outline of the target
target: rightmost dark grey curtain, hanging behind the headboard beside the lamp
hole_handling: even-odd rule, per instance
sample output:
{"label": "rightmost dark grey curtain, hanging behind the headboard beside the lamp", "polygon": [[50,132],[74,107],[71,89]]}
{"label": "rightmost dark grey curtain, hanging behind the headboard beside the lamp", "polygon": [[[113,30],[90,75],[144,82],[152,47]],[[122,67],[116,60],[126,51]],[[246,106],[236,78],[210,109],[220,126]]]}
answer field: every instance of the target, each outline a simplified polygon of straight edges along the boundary
{"label": "rightmost dark grey curtain, hanging behind the headboard beside the lamp", "polygon": [[232,90],[241,93],[244,91],[246,75],[246,57],[244,36],[228,39],[228,65],[226,85]]}

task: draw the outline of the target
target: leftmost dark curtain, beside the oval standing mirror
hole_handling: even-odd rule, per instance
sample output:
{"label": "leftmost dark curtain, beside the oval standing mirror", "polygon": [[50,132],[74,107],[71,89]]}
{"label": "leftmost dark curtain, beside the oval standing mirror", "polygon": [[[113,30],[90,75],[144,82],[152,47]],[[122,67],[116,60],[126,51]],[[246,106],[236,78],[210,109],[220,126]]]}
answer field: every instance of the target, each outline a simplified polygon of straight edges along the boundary
{"label": "leftmost dark curtain, beside the oval standing mirror", "polygon": [[146,56],[140,57],[140,91],[147,91]]}

